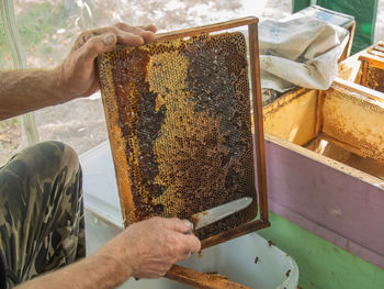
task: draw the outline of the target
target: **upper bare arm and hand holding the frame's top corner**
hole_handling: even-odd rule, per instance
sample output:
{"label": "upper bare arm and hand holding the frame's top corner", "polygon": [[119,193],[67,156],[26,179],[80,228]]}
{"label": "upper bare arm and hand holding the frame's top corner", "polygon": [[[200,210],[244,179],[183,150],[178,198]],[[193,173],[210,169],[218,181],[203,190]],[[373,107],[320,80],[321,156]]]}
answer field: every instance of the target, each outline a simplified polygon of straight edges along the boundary
{"label": "upper bare arm and hand holding the frame's top corner", "polygon": [[0,120],[47,105],[88,97],[99,89],[94,59],[115,44],[131,46],[151,42],[156,27],[114,26],[86,31],[64,62],[54,69],[0,71]]}

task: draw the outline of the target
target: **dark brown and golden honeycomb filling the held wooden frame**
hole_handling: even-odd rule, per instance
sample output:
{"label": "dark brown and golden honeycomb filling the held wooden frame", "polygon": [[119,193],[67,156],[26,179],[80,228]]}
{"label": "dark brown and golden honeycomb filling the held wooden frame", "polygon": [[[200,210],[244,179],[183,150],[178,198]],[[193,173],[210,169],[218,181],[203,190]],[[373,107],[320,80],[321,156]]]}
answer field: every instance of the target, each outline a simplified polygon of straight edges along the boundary
{"label": "dark brown and golden honeycomb filling the held wooden frame", "polygon": [[253,220],[244,35],[203,33],[120,47],[98,60],[124,224],[154,215],[190,219],[246,196],[251,205],[196,235]]}

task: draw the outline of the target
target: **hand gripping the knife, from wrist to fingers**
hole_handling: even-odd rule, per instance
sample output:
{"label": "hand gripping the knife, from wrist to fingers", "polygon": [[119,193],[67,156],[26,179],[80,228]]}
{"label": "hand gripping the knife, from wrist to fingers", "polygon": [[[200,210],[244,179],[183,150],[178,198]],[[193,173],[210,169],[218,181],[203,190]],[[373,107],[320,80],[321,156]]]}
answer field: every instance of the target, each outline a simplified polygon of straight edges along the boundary
{"label": "hand gripping the knife, from wrist to fingers", "polygon": [[151,218],[129,225],[110,241],[99,254],[118,258],[123,273],[136,278],[159,278],[171,266],[188,259],[201,248],[187,220]]}

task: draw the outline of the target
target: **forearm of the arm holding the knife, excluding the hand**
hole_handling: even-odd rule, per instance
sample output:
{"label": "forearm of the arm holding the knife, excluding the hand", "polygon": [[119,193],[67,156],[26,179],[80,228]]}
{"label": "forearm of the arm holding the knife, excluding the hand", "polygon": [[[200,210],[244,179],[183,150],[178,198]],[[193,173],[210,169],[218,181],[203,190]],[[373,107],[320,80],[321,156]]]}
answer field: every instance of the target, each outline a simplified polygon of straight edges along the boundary
{"label": "forearm of the arm holding the knife, excluding the hand", "polygon": [[15,289],[110,289],[131,277],[115,256],[95,253],[72,265],[26,281]]}

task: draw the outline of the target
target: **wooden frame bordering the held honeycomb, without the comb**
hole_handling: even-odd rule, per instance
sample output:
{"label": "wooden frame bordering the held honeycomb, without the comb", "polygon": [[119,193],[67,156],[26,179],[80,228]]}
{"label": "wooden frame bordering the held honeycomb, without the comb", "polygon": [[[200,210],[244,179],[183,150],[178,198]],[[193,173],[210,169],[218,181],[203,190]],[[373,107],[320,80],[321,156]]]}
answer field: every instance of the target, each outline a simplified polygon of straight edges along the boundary
{"label": "wooden frame bordering the held honeycomb, without the comb", "polygon": [[[267,181],[266,181],[266,160],[264,160],[264,144],[263,144],[263,129],[262,129],[262,104],[261,104],[261,93],[260,93],[260,71],[259,71],[259,57],[258,57],[258,37],[257,37],[257,24],[258,19],[246,18],[235,21],[228,21],[224,23],[206,25],[195,29],[181,30],[177,32],[159,34],[157,37],[157,43],[166,43],[167,41],[176,38],[185,38],[200,35],[202,33],[212,33],[223,30],[234,29],[238,26],[248,25],[248,51],[249,51],[249,66],[250,66],[250,78],[251,78],[251,92],[252,92],[252,108],[253,108],[253,123],[255,125],[255,136],[253,136],[253,153],[256,160],[255,178],[257,179],[257,191],[259,201],[259,214],[260,219],[253,220],[244,224],[240,224],[234,229],[229,229],[225,232],[208,236],[202,240],[202,247],[208,247],[221,242],[247,234],[249,232],[269,226],[268,221],[268,203],[267,203]],[[114,84],[111,82],[113,76],[110,70],[103,69],[103,64],[108,64],[108,56],[102,56],[99,58],[99,69],[101,71],[101,90],[103,95],[103,102],[105,108],[105,115],[111,142],[111,148],[113,154],[113,159],[116,169],[116,179],[120,191],[120,198],[122,203],[122,210],[125,219],[125,225],[128,225],[132,220],[129,219],[129,212],[135,210],[135,204],[133,202],[132,192],[129,184],[125,180],[128,179],[126,162],[126,147],[125,143],[122,141],[122,130],[117,125],[118,119],[114,113],[114,109],[110,109],[111,105],[111,88],[114,88]],[[110,75],[109,75],[110,74]],[[135,221],[135,220],[134,220]]]}

